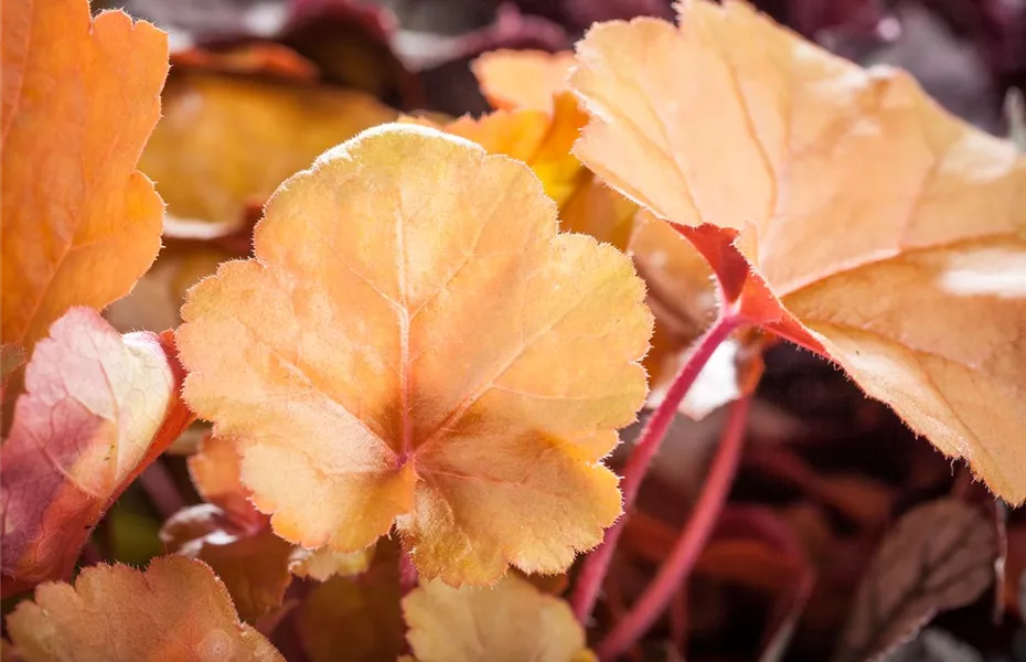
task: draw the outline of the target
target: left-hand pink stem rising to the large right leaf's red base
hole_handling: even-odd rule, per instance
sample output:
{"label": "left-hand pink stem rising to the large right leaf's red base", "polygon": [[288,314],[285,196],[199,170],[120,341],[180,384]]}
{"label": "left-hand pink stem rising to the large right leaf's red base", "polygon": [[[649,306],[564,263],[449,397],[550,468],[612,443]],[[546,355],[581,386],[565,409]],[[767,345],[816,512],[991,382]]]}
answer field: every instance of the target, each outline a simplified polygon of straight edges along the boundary
{"label": "left-hand pink stem rising to the large right leaf's red base", "polygon": [[724,309],[720,312],[720,316],[716,318],[716,321],[705,332],[705,335],[698,340],[687,361],[681,367],[681,372],[677,373],[673,384],[666,391],[666,397],[655,408],[652,417],[649,418],[641,431],[641,436],[638,437],[634,450],[623,468],[623,480],[620,483],[623,491],[623,516],[606,531],[605,540],[588,555],[581,565],[580,574],[577,576],[577,585],[570,605],[581,623],[587,624],[588,619],[591,617],[591,610],[595,609],[599,589],[602,587],[602,581],[609,572],[609,564],[612,562],[617,541],[620,540],[620,534],[623,533],[623,521],[634,505],[641,481],[644,480],[644,476],[649,471],[649,465],[652,463],[652,458],[659,451],[663,437],[666,436],[670,424],[673,423],[676,416],[681,401],[687,395],[687,391],[695,383],[716,348],[740,323],[741,319],[730,309]]}

